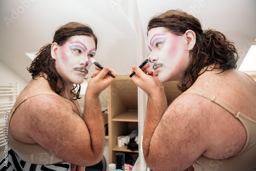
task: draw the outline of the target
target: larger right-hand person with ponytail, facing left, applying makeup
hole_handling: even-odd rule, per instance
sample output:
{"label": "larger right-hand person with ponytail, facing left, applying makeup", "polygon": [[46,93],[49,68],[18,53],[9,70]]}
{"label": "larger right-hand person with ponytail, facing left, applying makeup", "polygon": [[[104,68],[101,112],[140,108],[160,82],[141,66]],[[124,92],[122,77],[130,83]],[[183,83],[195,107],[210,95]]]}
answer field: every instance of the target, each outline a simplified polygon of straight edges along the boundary
{"label": "larger right-hand person with ponytail, facing left, applying makeup", "polygon": [[[154,171],[256,168],[256,83],[235,70],[232,42],[180,10],[154,16],[147,36],[154,70],[147,64],[131,71],[148,94],[146,164]],[[180,81],[184,92],[169,106],[167,81]]]}

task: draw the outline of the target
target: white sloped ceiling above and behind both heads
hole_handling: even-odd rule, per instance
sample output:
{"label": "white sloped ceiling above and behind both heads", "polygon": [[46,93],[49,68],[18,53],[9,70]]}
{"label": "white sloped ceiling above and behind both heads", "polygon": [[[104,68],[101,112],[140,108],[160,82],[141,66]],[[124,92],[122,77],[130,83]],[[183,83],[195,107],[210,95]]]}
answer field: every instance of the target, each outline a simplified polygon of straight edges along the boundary
{"label": "white sloped ceiling above and behind both heads", "polygon": [[[131,8],[131,3],[137,8]],[[241,55],[238,66],[256,38],[255,0],[2,0],[0,60],[29,81],[26,67],[31,59],[25,53],[38,51],[52,42],[59,26],[75,21],[89,24],[96,33],[99,44],[95,59],[119,75],[127,75],[138,61],[137,33],[129,22],[131,9],[140,17],[145,41],[147,22],[156,13],[181,9],[195,15],[203,29],[221,31],[235,43]],[[143,48],[147,49],[146,45]]]}

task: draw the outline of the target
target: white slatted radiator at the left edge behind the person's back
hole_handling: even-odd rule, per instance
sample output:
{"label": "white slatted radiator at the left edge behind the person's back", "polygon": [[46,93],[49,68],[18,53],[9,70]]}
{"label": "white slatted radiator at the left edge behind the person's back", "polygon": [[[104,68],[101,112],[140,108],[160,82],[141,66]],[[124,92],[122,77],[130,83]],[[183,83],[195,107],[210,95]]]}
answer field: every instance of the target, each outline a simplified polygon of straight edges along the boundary
{"label": "white slatted radiator at the left edge behind the person's back", "polygon": [[[0,84],[0,151],[5,146],[4,142],[8,139],[8,114],[10,113],[19,94],[18,83]],[[1,157],[1,156],[0,156]]]}

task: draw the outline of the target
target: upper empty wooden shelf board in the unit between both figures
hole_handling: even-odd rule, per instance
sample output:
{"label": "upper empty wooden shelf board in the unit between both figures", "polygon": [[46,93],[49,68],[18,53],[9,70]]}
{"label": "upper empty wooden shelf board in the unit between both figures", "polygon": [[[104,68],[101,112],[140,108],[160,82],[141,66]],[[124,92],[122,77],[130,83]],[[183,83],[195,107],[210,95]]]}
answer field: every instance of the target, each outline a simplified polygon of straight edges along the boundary
{"label": "upper empty wooden shelf board in the unit between both figures", "polygon": [[138,111],[126,111],[112,118],[112,121],[138,122]]}

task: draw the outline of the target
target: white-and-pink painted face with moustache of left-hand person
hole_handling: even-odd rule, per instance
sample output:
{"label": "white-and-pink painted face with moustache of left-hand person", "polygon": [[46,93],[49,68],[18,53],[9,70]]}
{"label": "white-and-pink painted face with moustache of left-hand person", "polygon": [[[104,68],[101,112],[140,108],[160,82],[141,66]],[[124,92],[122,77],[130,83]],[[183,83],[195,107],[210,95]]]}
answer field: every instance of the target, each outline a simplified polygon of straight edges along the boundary
{"label": "white-and-pink painted face with moustache of left-hand person", "polygon": [[96,54],[93,37],[72,36],[62,46],[54,46],[56,49],[52,48],[52,57],[58,74],[66,83],[82,83],[92,65],[89,59]]}

